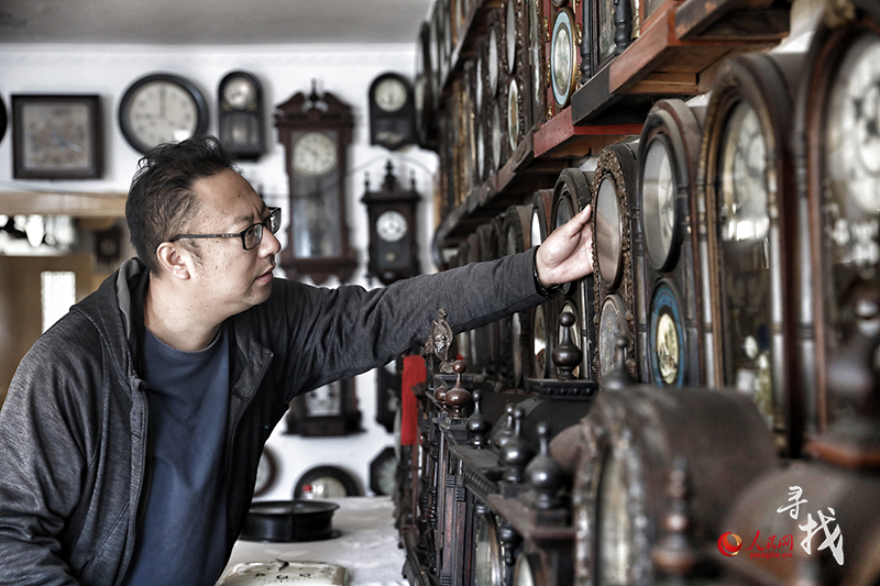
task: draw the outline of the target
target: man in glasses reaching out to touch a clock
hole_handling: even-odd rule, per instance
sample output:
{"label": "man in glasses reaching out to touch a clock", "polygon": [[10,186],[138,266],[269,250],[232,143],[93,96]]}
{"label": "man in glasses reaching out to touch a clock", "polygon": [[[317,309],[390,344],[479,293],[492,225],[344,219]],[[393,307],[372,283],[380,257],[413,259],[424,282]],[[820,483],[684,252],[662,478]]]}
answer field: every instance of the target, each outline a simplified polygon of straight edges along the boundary
{"label": "man in glasses reaching out to touch a clock", "polygon": [[273,278],[279,210],[215,139],[142,161],[139,259],[46,332],[0,411],[0,584],[212,585],[290,399],[592,270],[588,211],[529,251],[383,289]]}

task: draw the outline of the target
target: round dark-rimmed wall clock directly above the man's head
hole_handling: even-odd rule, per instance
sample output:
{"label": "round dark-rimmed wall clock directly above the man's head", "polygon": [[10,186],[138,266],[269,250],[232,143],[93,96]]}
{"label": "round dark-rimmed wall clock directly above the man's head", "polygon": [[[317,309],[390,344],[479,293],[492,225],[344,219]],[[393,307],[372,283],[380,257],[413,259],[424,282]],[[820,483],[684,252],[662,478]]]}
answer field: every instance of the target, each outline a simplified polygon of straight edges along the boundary
{"label": "round dark-rimmed wall clock directly above the man's head", "polygon": [[129,144],[146,153],[208,130],[208,103],[195,84],[173,74],[134,81],[119,101],[119,129]]}

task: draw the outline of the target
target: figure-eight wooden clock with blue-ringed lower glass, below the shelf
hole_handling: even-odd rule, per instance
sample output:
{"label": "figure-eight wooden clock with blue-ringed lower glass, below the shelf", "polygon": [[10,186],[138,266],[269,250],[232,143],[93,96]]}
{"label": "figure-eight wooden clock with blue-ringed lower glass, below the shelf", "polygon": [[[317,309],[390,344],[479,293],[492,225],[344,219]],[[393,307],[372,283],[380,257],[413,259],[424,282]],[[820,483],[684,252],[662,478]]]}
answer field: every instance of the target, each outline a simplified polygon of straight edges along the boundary
{"label": "figure-eight wooden clock with blue-ringed lower glass, below the shelf", "polygon": [[[640,347],[640,363],[649,382],[659,386],[705,384],[702,373],[700,299],[703,287],[698,277],[705,276],[700,258],[695,177],[700,159],[702,132],[694,112],[681,100],[661,100],[648,114],[639,140],[639,194],[632,220],[638,224],[637,250],[644,251],[636,273],[645,284],[638,292],[639,328],[648,330],[648,344]],[[661,284],[666,283],[661,287]],[[672,289],[674,295],[658,291]],[[657,303],[663,300],[661,306]],[[676,310],[662,313],[658,307]],[[681,301],[681,305],[679,305]],[[669,321],[675,317],[674,328]],[[654,329],[657,325],[657,329]],[[674,344],[673,344],[674,341]],[[675,349],[672,353],[671,350]],[[674,355],[674,356],[673,356]],[[674,376],[671,368],[674,357]],[[669,368],[659,376],[658,364]]]}

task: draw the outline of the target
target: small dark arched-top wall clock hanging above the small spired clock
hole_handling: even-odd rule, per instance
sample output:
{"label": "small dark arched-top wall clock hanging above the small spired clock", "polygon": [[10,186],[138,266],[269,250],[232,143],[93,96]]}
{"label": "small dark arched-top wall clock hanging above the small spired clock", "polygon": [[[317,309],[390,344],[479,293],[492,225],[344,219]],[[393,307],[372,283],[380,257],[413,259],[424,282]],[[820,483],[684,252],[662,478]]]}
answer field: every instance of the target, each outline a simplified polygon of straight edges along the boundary
{"label": "small dark arched-top wall clock hanging above the small spired clock", "polygon": [[413,87],[399,74],[376,77],[370,85],[370,144],[396,151],[415,142]]}

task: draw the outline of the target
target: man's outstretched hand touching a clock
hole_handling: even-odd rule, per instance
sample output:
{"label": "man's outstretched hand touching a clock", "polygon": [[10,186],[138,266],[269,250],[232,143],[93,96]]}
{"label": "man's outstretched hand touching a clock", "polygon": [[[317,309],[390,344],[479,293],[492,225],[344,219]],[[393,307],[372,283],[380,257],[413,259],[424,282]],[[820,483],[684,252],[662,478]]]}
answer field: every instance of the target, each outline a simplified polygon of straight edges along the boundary
{"label": "man's outstretched hand touching a clock", "polygon": [[576,280],[593,272],[593,228],[587,206],[557,228],[538,248],[538,278],[547,287]]}

